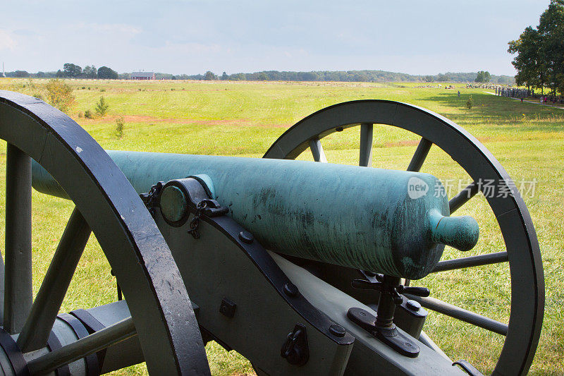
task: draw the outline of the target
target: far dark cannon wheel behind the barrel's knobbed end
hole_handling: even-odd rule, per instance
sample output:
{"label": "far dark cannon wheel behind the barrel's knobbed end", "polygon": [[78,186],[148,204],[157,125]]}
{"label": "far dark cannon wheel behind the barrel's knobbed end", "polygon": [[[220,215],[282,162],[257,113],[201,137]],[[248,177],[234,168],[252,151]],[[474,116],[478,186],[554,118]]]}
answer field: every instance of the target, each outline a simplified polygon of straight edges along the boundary
{"label": "far dark cannon wheel behind the barrel's knobbed end", "polygon": [[[453,121],[427,109],[386,100],[362,100],[321,109],[296,123],[281,135],[264,154],[265,158],[295,159],[309,148],[316,162],[327,162],[321,141],[331,133],[360,127],[360,166],[372,165],[373,125],[403,128],[421,136],[407,165],[407,171],[419,171],[432,145],[446,152],[470,175],[473,183],[450,199],[453,213],[476,195],[486,179],[510,182],[496,158],[476,138]],[[380,167],[380,166],[379,166]],[[425,308],[505,336],[494,375],[526,374],[539,342],[544,314],[544,274],[537,235],[531,217],[514,184],[507,183],[510,195],[486,197],[498,222],[505,250],[455,260],[444,260],[434,272],[508,262],[511,306],[508,324],[491,320],[434,298],[410,298]],[[467,194],[470,192],[470,197]],[[455,292],[456,286],[453,286]],[[433,291],[431,290],[431,297]],[[477,346],[480,346],[478,344]],[[439,350],[440,351],[440,350]]]}

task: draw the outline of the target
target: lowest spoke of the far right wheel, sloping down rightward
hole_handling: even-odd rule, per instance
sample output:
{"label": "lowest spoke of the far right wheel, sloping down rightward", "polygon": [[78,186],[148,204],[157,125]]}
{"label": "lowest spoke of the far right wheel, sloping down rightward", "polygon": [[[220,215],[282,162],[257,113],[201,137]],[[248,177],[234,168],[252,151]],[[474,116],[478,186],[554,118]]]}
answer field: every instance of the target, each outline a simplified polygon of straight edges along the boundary
{"label": "lowest spoke of the far right wheel, sloping down rightward", "polygon": [[414,301],[418,301],[422,306],[424,306],[424,308],[429,308],[429,310],[434,310],[436,312],[442,313],[443,315],[454,317],[455,319],[476,325],[477,327],[481,327],[491,332],[507,336],[508,325],[503,324],[503,322],[498,322],[496,320],[490,319],[489,317],[478,315],[477,313],[470,312],[469,310],[465,310],[464,308],[457,307],[456,305],[439,301],[439,299],[421,298],[419,296],[408,294],[405,294],[405,296]]}

